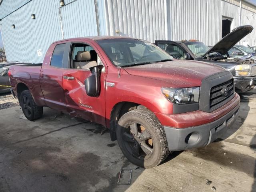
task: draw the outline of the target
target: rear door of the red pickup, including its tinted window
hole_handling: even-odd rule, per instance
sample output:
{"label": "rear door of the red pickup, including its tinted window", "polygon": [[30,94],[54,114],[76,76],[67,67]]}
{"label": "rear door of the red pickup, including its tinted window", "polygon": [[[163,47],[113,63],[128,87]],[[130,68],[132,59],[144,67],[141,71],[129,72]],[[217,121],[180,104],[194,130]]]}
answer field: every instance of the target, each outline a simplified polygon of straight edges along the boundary
{"label": "rear door of the red pickup, including its tinted window", "polygon": [[52,109],[66,112],[66,99],[62,88],[63,57],[66,43],[55,45],[50,63],[43,64],[40,72],[40,84],[44,102]]}

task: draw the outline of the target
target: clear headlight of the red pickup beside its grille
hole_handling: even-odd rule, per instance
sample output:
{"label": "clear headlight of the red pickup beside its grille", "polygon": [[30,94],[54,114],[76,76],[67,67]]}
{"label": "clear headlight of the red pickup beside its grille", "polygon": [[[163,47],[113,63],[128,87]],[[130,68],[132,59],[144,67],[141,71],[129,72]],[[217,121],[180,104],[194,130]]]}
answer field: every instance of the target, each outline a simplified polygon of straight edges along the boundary
{"label": "clear headlight of the red pickup beside its grille", "polygon": [[188,104],[199,102],[200,87],[190,88],[162,88],[164,96],[174,104]]}

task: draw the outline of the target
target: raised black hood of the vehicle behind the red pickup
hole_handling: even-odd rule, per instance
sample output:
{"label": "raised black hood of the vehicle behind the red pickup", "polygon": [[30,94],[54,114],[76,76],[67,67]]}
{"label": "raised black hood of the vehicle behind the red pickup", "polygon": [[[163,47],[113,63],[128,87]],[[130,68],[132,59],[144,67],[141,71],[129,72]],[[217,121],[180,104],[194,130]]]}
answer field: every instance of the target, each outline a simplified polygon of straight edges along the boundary
{"label": "raised black hood of the vehicle behind the red pickup", "polygon": [[253,27],[250,25],[244,25],[237,28],[234,28],[232,32],[224,36],[218,43],[216,43],[214,46],[212,46],[206,54],[218,52],[222,55],[226,54],[228,50],[230,50],[237,42],[239,42],[242,38],[244,38],[246,35],[248,35],[250,32],[252,32]]}

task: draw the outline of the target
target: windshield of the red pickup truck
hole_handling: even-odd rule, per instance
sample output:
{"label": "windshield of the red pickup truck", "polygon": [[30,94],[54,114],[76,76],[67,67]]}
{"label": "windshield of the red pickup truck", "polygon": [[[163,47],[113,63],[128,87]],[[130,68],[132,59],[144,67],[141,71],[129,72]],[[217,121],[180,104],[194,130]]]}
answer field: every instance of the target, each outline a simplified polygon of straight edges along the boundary
{"label": "windshield of the red pickup truck", "polygon": [[112,63],[121,67],[174,60],[158,46],[144,40],[106,39],[97,42]]}

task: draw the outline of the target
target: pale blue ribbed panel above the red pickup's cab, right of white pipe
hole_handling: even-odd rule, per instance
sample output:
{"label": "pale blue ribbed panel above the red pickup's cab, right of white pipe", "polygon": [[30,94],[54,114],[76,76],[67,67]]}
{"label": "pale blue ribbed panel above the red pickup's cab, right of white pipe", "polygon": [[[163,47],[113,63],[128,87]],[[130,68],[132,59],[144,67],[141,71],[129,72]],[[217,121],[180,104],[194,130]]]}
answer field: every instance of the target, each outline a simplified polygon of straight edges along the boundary
{"label": "pale blue ribbed panel above the red pickup's cab, right of white pipe", "polygon": [[59,8],[62,38],[97,36],[94,0],[76,0]]}

